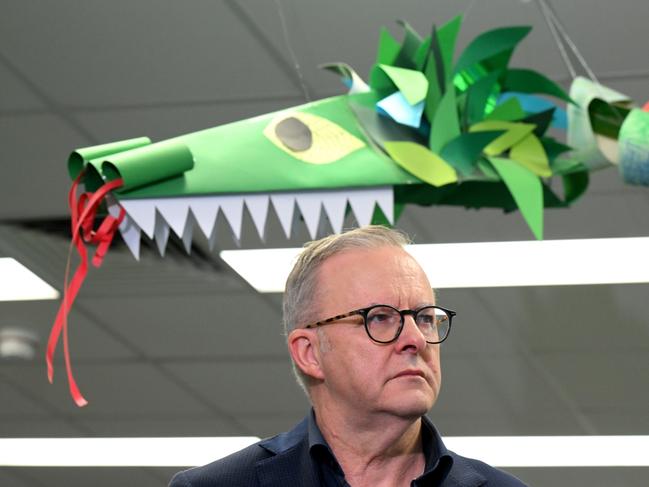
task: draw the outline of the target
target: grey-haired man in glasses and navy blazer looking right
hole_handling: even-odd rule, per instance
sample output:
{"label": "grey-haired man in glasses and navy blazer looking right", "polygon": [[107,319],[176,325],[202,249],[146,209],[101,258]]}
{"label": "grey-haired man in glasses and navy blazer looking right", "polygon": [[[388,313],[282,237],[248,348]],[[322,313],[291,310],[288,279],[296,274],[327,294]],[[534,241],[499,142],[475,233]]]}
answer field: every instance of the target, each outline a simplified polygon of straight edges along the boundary
{"label": "grey-haired man in glasses and navy blazer looking right", "polygon": [[284,326],[313,409],[287,433],[180,472],[172,487],[523,485],[447,450],[425,416],[455,312],[435,304],[407,243],[369,226],[305,247]]}

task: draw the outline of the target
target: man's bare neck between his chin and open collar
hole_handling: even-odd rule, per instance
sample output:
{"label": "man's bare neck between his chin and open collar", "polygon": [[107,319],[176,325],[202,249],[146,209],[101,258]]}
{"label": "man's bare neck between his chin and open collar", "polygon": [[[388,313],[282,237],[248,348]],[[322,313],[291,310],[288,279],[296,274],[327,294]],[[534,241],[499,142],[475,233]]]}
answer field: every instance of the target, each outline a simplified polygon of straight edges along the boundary
{"label": "man's bare neck between his chin and open collar", "polygon": [[426,464],[421,418],[361,418],[316,409],[316,422],[352,487],[410,485]]}

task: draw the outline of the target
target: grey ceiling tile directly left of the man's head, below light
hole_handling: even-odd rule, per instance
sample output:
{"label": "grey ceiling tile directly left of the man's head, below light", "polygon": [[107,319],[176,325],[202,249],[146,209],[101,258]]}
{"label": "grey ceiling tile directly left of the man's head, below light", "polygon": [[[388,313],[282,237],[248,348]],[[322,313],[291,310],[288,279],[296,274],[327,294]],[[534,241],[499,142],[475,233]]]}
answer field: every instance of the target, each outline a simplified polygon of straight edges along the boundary
{"label": "grey ceiling tile directly left of the man's head, below light", "polygon": [[285,356],[281,316],[254,293],[122,299],[111,326],[148,356]]}

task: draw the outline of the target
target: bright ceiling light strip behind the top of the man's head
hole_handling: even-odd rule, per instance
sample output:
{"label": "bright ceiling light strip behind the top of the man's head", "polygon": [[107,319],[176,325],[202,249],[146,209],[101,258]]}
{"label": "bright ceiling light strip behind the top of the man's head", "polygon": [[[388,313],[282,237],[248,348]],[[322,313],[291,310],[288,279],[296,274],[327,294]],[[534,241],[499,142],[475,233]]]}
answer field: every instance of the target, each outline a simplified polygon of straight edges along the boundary
{"label": "bright ceiling light strip behind the top of the man's head", "polygon": [[[283,292],[299,248],[224,250],[221,258],[257,291]],[[407,246],[443,288],[649,282],[649,237]]]}

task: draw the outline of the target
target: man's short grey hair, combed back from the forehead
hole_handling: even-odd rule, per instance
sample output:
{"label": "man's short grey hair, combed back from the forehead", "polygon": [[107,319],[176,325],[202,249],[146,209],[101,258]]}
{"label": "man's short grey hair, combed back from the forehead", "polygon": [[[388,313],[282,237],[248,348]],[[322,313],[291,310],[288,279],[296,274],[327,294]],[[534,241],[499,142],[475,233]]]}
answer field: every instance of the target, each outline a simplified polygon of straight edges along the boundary
{"label": "man's short grey hair, combed back from the forehead", "polygon": [[[409,243],[410,238],[402,231],[380,225],[355,228],[306,243],[286,280],[283,299],[286,336],[295,328],[316,320],[318,310],[313,303],[317,296],[318,269],[325,260],[346,250],[403,247]],[[309,377],[295,363],[293,372],[308,396]]]}

